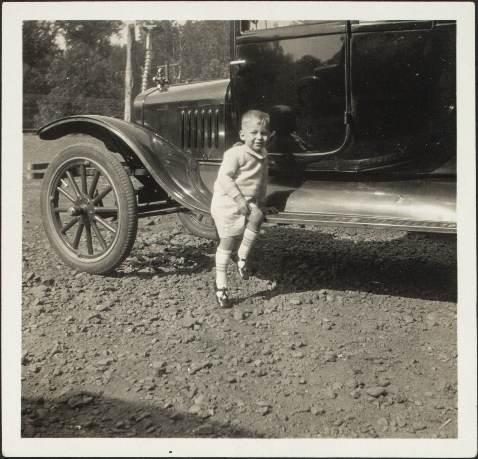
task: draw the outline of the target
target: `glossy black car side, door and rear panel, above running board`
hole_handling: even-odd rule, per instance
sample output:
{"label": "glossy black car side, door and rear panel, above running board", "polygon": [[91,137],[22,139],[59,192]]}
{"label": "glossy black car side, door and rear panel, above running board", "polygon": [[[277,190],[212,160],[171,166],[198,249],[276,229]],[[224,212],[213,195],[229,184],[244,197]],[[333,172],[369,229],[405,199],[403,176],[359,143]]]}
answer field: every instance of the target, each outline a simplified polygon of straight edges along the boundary
{"label": "glossy black car side, door and rear panel, above running board", "polygon": [[[277,104],[296,117],[303,151],[291,146],[286,154],[272,144],[277,168],[355,172],[413,162],[427,173],[456,154],[456,24],[337,21],[235,30],[234,59],[246,61],[231,69],[236,119],[253,106],[270,111]],[[348,112],[353,141],[333,157],[322,154],[343,142]]]}

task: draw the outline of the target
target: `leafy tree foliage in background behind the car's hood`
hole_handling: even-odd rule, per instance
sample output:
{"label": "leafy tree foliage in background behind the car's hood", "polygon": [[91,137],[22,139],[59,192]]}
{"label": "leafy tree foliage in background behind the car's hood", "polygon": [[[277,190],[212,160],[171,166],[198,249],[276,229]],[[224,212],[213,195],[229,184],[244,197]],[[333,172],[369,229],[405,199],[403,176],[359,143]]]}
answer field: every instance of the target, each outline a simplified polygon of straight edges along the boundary
{"label": "leafy tree foliage in background behind the car's hood", "polygon": [[[146,22],[138,21],[140,25]],[[148,22],[153,59],[170,67],[171,84],[227,78],[228,21]],[[25,21],[23,23],[24,127],[77,114],[122,117],[126,47],[111,44],[120,21]],[[65,49],[58,45],[61,38]],[[141,91],[146,35],[141,28],[132,55],[133,94]]]}

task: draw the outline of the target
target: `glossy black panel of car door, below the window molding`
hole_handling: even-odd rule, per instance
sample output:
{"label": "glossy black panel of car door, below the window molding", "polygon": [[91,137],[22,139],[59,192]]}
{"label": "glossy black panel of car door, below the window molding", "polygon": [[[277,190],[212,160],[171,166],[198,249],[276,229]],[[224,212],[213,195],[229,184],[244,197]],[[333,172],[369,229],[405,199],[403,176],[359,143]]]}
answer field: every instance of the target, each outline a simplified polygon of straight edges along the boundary
{"label": "glossy black panel of car door, below the window molding", "polygon": [[[346,39],[345,28],[341,29],[343,33],[238,44],[237,59],[246,61],[235,75],[239,113],[291,107],[295,130],[311,151],[324,153],[340,147],[346,136],[347,109]],[[279,132],[274,121],[271,129]],[[284,141],[275,143],[269,151],[281,153],[276,150]]]}

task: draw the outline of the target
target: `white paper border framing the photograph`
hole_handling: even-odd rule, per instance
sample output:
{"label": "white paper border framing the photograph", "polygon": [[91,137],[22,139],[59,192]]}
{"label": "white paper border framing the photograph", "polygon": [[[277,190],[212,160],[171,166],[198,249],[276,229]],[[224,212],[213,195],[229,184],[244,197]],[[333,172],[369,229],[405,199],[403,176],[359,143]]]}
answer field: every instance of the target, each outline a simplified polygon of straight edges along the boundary
{"label": "white paper border framing the photograph", "polygon": [[[22,21],[367,19],[457,21],[458,438],[21,438]],[[477,453],[475,4],[473,2],[3,2],[2,452],[16,457],[473,457]]]}

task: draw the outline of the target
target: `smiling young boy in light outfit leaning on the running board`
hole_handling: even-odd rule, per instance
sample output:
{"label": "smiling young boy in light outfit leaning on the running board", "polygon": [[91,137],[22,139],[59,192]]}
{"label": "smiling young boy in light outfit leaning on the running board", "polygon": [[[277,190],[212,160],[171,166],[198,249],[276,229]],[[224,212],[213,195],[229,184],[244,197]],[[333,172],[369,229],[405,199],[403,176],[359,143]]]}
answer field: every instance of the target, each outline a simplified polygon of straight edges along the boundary
{"label": "smiling young boy in light outfit leaning on the running board", "polygon": [[274,207],[264,207],[268,168],[265,146],[269,141],[269,115],[249,110],[242,116],[239,137],[222,160],[214,184],[211,215],[216,222],[219,246],[216,252],[216,301],[220,307],[231,307],[228,297],[228,262],[234,247],[234,237],[244,233],[237,254],[233,256],[239,276],[247,280],[247,256],[259,235],[266,213],[277,213]]}

